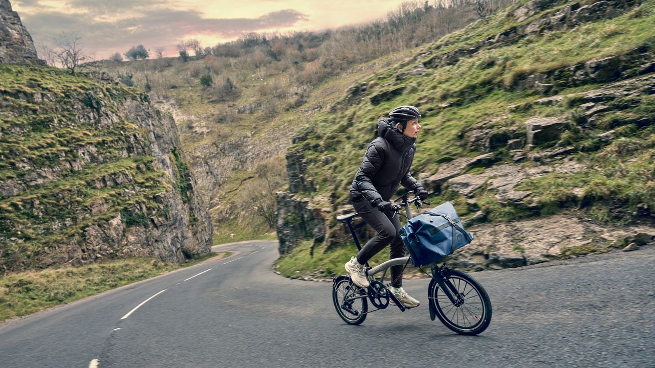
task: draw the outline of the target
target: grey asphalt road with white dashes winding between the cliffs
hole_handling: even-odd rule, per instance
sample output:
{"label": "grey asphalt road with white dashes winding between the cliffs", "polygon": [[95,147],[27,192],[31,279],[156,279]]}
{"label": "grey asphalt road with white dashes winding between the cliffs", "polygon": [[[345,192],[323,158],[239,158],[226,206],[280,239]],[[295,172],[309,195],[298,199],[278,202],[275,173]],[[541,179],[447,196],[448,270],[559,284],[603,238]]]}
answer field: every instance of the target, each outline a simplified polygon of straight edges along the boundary
{"label": "grey asphalt road with white dashes winding between the cliffs", "polygon": [[475,272],[493,319],[474,337],[430,321],[427,280],[405,281],[418,308],[352,326],[329,282],[271,272],[275,242],[223,249],[238,254],[3,323],[0,367],[655,367],[652,246]]}

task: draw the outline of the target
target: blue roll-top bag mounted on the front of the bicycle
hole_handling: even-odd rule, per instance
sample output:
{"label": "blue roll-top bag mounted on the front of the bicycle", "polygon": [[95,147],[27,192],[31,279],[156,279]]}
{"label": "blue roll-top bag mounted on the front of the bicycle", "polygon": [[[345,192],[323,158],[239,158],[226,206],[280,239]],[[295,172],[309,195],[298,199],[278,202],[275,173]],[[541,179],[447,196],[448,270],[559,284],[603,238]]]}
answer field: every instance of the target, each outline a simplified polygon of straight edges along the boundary
{"label": "blue roll-top bag mounted on the front of the bicycle", "polygon": [[415,267],[439,261],[473,241],[450,202],[409,219],[400,236]]}

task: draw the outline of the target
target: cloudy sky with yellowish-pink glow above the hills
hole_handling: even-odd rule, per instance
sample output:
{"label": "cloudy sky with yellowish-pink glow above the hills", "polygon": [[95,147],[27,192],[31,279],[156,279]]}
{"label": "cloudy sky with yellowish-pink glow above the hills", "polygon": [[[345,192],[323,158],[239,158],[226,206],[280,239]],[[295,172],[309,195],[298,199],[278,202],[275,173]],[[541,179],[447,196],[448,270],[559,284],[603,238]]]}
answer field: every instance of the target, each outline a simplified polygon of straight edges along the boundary
{"label": "cloudy sky with yellowish-pink glow above the hills", "polygon": [[87,53],[107,58],[142,44],[166,54],[199,39],[203,46],[249,32],[314,31],[383,18],[406,0],[10,0],[34,43],[62,32],[82,37]]}

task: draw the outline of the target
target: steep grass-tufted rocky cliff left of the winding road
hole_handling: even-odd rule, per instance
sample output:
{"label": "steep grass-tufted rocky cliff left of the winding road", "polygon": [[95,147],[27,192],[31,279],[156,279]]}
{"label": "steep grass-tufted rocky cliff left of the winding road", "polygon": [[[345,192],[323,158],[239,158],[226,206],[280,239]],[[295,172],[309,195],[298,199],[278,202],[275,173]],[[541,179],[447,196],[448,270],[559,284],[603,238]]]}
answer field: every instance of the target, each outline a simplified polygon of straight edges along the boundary
{"label": "steep grass-tufted rocky cliff left of the winding road", "polygon": [[0,272],[210,251],[174,121],[147,95],[31,65],[0,81]]}

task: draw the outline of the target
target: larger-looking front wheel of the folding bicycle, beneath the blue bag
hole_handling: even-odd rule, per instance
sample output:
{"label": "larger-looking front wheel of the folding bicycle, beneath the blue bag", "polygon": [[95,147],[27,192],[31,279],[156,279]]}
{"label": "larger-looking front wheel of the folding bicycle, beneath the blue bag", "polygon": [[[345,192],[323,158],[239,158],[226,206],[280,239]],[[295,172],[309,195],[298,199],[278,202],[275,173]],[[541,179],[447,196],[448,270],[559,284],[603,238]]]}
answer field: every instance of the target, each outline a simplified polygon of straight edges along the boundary
{"label": "larger-looking front wheel of the folding bicycle, beneath the blue bag", "polygon": [[[432,304],[431,307],[434,308],[436,316],[446,327],[460,335],[477,335],[485,331],[489,327],[489,323],[491,323],[491,300],[487,291],[466,272],[450,270],[448,279],[457,288],[458,292],[464,293],[465,302],[461,306],[455,306],[443,291],[440,293],[438,282],[432,279],[428,287],[428,300]],[[467,290],[468,293],[466,293]],[[476,291],[477,299],[476,295],[468,297],[471,291]],[[471,300],[466,301],[467,299]],[[455,309],[455,313],[453,313],[453,309]],[[477,313],[479,313],[479,316]],[[460,316],[462,316],[461,321]],[[470,322],[475,323],[471,325],[462,324]]]}

